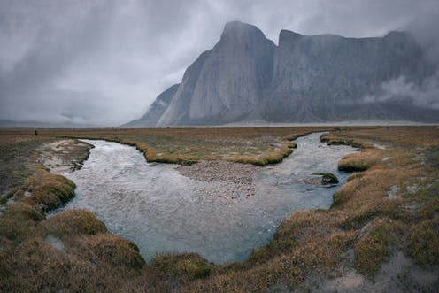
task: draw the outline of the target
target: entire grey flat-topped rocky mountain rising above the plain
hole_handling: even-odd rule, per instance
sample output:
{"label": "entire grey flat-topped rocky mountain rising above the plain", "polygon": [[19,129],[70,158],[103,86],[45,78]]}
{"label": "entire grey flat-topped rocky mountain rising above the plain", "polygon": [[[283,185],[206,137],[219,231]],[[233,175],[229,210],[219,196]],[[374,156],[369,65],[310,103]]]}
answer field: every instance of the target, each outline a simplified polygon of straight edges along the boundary
{"label": "entire grey flat-topped rocky mountain rising above the plain", "polygon": [[406,32],[346,38],[281,30],[276,46],[258,27],[229,22],[212,50],[189,66],[173,96],[161,103],[167,89],[127,126],[439,121],[439,110],[426,109],[412,95],[435,76],[425,55]]}

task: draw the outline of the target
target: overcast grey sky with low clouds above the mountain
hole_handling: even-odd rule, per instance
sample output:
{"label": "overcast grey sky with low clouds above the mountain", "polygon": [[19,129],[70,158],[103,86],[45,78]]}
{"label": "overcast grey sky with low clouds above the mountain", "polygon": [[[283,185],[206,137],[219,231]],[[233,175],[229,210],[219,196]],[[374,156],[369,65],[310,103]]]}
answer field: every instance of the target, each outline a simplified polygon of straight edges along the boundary
{"label": "overcast grey sky with low clouds above the mountain", "polygon": [[405,29],[427,43],[438,19],[437,0],[0,0],[0,120],[138,118],[231,20],[276,43],[282,28],[354,37]]}

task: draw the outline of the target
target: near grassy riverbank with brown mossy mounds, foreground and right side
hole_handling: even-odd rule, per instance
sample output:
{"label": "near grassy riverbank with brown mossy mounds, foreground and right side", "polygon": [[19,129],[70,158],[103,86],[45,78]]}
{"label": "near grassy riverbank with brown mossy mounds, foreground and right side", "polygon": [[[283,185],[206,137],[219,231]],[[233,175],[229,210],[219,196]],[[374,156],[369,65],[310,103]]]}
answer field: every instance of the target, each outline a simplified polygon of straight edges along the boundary
{"label": "near grassy riverbank with brown mossy mounds, foreground and right side", "polygon": [[[278,137],[281,140],[297,131],[302,129],[281,129]],[[52,135],[55,136],[50,134],[50,139]],[[201,141],[200,138],[197,143]],[[327,135],[327,142],[361,146],[361,153],[344,158],[342,163],[362,166],[363,171],[350,176],[335,194],[329,211],[295,213],[282,222],[273,240],[254,251],[248,261],[213,266],[196,255],[182,254],[159,256],[143,265],[136,260],[134,245],[105,234],[102,223],[93,220],[89,213],[73,212],[56,219],[58,224],[54,224],[55,217],[43,220],[41,214],[27,208],[19,210],[17,205],[15,212],[6,212],[0,219],[0,288],[437,289],[439,130],[342,128]],[[384,148],[374,148],[372,143]],[[20,222],[26,224],[19,225]],[[15,235],[18,236],[14,238]],[[64,251],[48,244],[48,235],[62,241]],[[54,243],[51,238],[49,243]]]}

